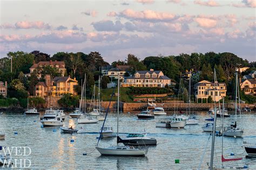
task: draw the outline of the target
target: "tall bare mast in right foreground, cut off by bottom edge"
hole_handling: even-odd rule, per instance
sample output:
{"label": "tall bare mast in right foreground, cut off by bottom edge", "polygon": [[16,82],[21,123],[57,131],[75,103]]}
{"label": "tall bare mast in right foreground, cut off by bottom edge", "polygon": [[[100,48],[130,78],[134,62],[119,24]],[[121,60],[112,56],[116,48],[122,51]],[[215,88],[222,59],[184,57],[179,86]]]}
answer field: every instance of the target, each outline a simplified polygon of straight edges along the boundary
{"label": "tall bare mast in right foreground, cut off by bottom edge", "polygon": [[216,110],[216,100],[215,100],[215,86],[216,84],[216,72],[214,68],[214,122],[213,122],[213,131],[212,131],[212,147],[211,147],[211,161],[210,161],[210,169],[213,169],[213,157],[214,157],[214,142],[215,142],[215,131],[216,131],[216,118],[217,118],[217,110]]}

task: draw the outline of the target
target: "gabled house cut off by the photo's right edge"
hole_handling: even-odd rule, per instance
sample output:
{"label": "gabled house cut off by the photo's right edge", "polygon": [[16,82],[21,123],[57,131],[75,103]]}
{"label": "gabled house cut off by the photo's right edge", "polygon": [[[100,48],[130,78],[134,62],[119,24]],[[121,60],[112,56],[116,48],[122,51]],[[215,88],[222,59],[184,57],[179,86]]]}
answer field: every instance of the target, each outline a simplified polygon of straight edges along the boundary
{"label": "gabled house cut off by the photo's right edge", "polygon": [[256,96],[256,78],[245,80],[240,83],[240,87],[244,90],[246,95]]}

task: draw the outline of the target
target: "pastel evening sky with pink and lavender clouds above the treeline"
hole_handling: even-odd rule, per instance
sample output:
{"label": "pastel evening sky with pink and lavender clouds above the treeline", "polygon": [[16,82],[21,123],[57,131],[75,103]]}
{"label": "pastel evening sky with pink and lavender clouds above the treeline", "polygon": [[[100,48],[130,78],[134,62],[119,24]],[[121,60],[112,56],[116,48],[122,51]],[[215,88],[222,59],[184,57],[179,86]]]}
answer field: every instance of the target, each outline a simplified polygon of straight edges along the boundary
{"label": "pastel evening sky with pink and lavender clouds above the treeline", "polygon": [[256,0],[2,1],[0,58],[8,52],[231,52],[256,61]]}

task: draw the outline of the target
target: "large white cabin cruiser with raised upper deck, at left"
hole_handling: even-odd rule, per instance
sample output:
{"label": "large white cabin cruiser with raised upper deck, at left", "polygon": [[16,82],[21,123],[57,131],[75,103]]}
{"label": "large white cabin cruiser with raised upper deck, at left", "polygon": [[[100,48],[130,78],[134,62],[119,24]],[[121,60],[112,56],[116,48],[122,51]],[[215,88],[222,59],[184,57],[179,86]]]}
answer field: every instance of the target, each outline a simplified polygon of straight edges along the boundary
{"label": "large white cabin cruiser with raised upper deck, at left", "polygon": [[56,110],[45,110],[45,114],[41,117],[40,121],[43,126],[62,126],[62,116]]}

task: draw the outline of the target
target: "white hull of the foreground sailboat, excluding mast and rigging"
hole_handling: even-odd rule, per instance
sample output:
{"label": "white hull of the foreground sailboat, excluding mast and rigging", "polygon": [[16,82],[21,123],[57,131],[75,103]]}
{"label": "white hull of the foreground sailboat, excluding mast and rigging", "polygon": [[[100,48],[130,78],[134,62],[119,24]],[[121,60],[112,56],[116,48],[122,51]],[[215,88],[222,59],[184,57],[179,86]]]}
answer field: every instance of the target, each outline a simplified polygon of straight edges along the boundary
{"label": "white hull of the foreground sailboat, excluding mast and rigging", "polygon": [[[118,147],[112,146],[107,148],[96,147],[100,154],[104,156],[121,156],[121,157],[145,157],[146,151],[144,150],[129,150],[117,149]],[[122,147],[120,147],[122,148]]]}

